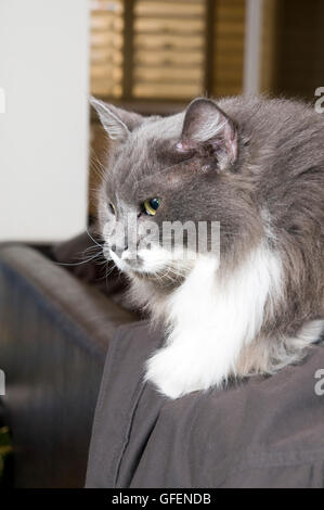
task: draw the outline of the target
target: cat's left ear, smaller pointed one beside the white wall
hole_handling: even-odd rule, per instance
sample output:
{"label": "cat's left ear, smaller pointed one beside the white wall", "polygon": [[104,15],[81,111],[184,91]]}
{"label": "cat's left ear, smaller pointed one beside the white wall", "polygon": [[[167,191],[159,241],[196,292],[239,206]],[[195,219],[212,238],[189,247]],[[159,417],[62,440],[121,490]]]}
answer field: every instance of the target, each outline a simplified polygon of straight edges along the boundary
{"label": "cat's left ear, smaller pointed one beside the white wall", "polygon": [[90,103],[96,111],[101,124],[112,140],[125,141],[130,131],[143,120],[142,115],[138,113],[127,112],[93,97],[90,97]]}

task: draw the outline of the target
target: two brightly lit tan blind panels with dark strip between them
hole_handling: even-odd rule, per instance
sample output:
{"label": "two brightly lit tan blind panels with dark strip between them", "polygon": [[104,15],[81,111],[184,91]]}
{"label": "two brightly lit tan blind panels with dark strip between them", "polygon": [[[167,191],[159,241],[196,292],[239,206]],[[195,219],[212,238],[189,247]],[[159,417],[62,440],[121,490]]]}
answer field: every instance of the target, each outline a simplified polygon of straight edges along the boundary
{"label": "two brightly lit tan blind panels with dark strip between them", "polygon": [[205,93],[207,0],[91,0],[91,92],[127,99]]}

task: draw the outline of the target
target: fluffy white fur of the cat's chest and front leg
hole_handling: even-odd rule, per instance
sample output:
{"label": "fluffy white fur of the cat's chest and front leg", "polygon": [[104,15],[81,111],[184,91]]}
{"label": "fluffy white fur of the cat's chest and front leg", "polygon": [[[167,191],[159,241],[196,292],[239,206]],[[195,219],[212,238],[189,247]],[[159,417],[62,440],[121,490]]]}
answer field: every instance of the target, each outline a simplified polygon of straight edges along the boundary
{"label": "fluffy white fur of the cat's chest and front leg", "polygon": [[145,379],[170,398],[221,386],[235,374],[243,346],[260,331],[268,297],[280,288],[280,258],[265,245],[225,278],[215,257],[199,256],[168,301],[167,342],[147,361]]}

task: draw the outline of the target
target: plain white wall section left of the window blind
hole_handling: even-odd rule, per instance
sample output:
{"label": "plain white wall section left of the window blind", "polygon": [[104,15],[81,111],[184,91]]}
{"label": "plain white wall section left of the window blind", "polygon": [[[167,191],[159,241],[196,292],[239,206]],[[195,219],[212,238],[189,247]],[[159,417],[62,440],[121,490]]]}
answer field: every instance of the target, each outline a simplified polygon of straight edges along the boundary
{"label": "plain white wall section left of the window blind", "polygon": [[86,227],[88,0],[0,0],[0,240]]}

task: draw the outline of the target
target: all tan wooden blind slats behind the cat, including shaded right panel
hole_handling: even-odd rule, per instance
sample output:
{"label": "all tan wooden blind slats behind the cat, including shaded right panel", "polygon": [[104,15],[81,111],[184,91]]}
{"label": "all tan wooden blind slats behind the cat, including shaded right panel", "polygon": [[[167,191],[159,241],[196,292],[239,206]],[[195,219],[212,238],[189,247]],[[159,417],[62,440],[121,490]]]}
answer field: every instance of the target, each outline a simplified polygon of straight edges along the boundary
{"label": "all tan wooden blind slats behind the cat, including shaded right panel", "polygon": [[[122,95],[127,71],[128,99],[191,99],[205,92],[206,55],[213,93],[242,91],[245,0],[217,0],[212,9],[207,0],[133,0],[133,37],[126,41],[129,1],[91,1],[92,93]],[[215,35],[206,47],[209,13]],[[131,67],[124,62],[126,42]]]}

